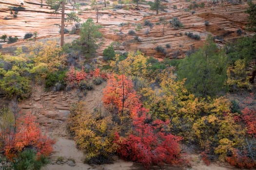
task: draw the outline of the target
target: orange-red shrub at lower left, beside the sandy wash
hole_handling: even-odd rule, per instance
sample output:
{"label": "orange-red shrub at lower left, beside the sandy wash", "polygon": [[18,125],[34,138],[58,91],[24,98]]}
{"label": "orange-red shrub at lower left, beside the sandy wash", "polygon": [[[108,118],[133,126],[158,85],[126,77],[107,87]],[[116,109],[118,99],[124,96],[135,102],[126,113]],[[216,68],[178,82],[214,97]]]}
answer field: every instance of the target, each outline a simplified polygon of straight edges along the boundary
{"label": "orange-red shrub at lower left, beside the sandy wash", "polygon": [[25,148],[34,148],[38,155],[47,156],[53,151],[55,141],[42,135],[36,117],[27,113],[17,120],[16,133],[5,137],[3,143],[6,157],[12,160]]}

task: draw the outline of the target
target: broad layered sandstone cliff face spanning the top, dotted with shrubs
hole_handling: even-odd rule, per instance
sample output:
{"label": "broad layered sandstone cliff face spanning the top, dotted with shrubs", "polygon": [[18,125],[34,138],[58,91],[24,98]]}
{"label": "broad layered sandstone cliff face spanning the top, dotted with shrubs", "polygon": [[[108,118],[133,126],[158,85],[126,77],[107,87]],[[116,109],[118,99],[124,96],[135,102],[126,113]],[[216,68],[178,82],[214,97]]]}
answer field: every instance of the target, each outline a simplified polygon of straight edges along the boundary
{"label": "broad layered sandstone cliff face spanning the top, dotted with shrubs", "polygon": [[[256,0],[253,1],[256,2]],[[6,52],[5,47],[22,46],[24,42],[33,44],[33,41],[21,39],[26,33],[35,31],[38,32],[39,39],[48,38],[59,41],[60,14],[52,14],[52,10],[44,1],[42,7],[40,7],[40,0],[25,0],[22,5],[20,2],[20,0],[8,0],[8,2],[0,0],[0,35],[18,36],[20,39],[15,44],[3,44],[2,52]],[[146,3],[140,4],[139,10],[136,10],[134,5],[123,5],[122,9],[115,10],[100,6],[98,23],[104,26],[101,29],[104,35],[104,44],[98,49],[98,55],[102,55],[103,50],[112,42],[118,42],[115,50],[123,52],[140,50],[146,55],[159,59],[163,57],[182,58],[187,51],[201,47],[208,34],[216,37],[216,42],[220,47],[226,41],[239,37],[240,35],[236,33],[238,29],[242,31],[243,35],[253,34],[245,30],[248,17],[244,13],[248,8],[246,1],[241,1],[240,4],[227,2],[214,4],[212,1],[197,1],[197,4],[201,2],[205,3],[203,8],[198,7],[188,11],[187,8],[192,2],[170,0],[164,4],[168,7],[166,12],[160,12],[158,15],[155,15],[155,11],[150,11],[149,5]],[[90,4],[89,0],[88,4]],[[177,6],[177,9],[174,9],[174,5]],[[10,14],[10,6],[22,6],[25,10],[19,11],[18,17],[14,18]],[[107,7],[111,6],[112,4],[109,4]],[[73,9],[70,5],[66,5],[65,8],[66,13]],[[81,22],[87,18],[93,18],[96,21],[96,11],[90,6],[80,6],[79,10],[75,9],[75,12],[80,13]],[[5,17],[8,19],[3,19]],[[177,17],[182,22],[182,28],[172,27],[169,21],[173,17]],[[164,31],[163,18],[166,21]],[[153,27],[144,26],[146,19],[154,24]],[[208,26],[205,25],[206,20],[209,22]],[[141,27],[138,26],[139,24]],[[73,24],[66,23],[65,25],[70,30]],[[136,31],[136,34],[129,35],[129,30]],[[189,32],[199,35],[200,40],[187,37],[185,33]],[[137,40],[136,36],[138,36]],[[65,43],[76,38],[78,35],[66,34]],[[166,48],[166,45],[170,48]],[[165,48],[165,53],[156,51],[157,46]]]}

